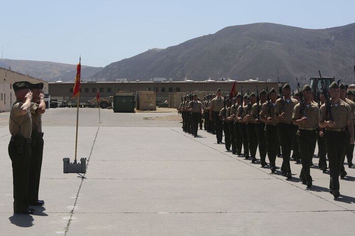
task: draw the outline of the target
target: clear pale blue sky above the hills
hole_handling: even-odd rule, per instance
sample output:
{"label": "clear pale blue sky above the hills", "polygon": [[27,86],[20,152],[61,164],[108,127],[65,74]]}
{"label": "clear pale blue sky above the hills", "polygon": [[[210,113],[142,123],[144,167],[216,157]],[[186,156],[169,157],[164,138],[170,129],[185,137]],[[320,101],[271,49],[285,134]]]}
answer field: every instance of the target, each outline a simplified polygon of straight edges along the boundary
{"label": "clear pale blue sky above the hills", "polygon": [[330,28],[355,22],[354,0],[1,1],[9,59],[106,66],[231,26],[271,22]]}

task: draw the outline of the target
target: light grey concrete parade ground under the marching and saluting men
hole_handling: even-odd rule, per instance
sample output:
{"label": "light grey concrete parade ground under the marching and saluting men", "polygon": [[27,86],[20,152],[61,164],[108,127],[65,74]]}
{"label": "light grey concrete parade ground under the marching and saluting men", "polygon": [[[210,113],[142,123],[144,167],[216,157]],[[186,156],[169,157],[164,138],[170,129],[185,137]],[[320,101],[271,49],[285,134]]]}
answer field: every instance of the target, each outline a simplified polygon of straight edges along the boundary
{"label": "light grey concrete parade ground under the marching and saluting men", "polygon": [[[334,199],[317,158],[307,189],[301,164],[291,160],[293,178],[286,180],[279,168],[261,167],[258,153],[251,163],[204,130],[193,138],[179,120],[154,119],[177,113],[100,112],[102,123],[98,109],[80,109],[78,158],[87,158],[82,175],[63,174],[62,159],[74,158],[76,109],[42,116],[45,205],[34,207],[34,215],[13,214],[9,113],[0,113],[1,235],[354,234],[354,168],[345,165],[348,175]],[[276,163],[280,167],[282,158]]]}

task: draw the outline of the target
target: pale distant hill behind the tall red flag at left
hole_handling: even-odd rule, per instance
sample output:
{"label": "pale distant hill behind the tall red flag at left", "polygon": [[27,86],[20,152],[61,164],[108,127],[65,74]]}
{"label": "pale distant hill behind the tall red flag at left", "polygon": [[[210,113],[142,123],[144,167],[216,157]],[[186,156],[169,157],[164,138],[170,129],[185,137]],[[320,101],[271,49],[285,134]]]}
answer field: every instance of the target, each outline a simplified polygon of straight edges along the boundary
{"label": "pale distant hill behind the tall red flag at left", "polygon": [[[0,67],[45,81],[74,81],[76,65],[50,61],[0,59]],[[81,79],[91,80],[102,68],[81,65]]]}

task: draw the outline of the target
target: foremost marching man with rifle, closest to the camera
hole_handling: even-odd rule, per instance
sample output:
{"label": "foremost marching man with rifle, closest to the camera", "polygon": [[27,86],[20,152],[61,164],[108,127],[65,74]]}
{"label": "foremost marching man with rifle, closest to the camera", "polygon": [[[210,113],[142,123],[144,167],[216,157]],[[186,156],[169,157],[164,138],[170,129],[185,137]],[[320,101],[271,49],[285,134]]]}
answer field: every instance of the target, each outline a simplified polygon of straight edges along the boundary
{"label": "foremost marching man with rifle, closest to the camera", "polygon": [[350,144],[354,143],[354,127],[352,124],[353,114],[350,106],[341,100],[339,85],[334,81],[329,87],[331,99],[323,104],[319,111],[319,127],[325,128],[324,139],[329,159],[330,168],[330,192],[334,198],[340,196],[339,174],[342,157],[345,155],[346,132],[348,127]]}

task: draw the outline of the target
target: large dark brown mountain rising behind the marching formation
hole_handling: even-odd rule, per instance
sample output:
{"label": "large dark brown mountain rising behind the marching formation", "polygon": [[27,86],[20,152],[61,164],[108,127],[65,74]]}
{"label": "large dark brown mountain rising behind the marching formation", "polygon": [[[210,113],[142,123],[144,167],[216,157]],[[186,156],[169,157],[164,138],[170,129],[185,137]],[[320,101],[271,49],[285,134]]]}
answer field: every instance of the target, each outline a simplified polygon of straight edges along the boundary
{"label": "large dark brown mountain rising behind the marching formation", "polygon": [[[293,81],[318,75],[354,81],[355,23],[327,29],[304,29],[272,23],[226,27],[166,49],[152,49],[113,62],[95,77],[150,80],[153,77],[195,81],[232,78]],[[306,81],[304,82],[306,83]]]}

